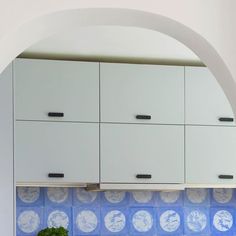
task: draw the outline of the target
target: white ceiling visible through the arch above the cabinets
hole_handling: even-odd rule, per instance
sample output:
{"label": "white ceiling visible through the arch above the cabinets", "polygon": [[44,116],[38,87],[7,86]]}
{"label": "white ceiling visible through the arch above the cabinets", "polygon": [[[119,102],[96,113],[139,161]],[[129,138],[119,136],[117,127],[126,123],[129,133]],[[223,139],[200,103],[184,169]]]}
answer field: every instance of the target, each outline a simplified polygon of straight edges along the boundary
{"label": "white ceiling visible through the arch above the cabinets", "polygon": [[79,27],[64,31],[32,45],[20,57],[202,64],[190,49],[167,35],[120,26]]}

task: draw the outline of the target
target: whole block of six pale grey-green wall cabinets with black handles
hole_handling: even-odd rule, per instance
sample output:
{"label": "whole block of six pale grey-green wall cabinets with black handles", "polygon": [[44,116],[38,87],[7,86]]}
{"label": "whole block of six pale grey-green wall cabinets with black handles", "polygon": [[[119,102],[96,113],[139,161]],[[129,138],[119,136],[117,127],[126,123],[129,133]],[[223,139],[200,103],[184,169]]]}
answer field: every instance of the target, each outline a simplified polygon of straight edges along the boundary
{"label": "whole block of six pale grey-green wall cabinets with black handles", "polygon": [[235,181],[234,116],[207,68],[17,59],[14,77],[19,185]]}

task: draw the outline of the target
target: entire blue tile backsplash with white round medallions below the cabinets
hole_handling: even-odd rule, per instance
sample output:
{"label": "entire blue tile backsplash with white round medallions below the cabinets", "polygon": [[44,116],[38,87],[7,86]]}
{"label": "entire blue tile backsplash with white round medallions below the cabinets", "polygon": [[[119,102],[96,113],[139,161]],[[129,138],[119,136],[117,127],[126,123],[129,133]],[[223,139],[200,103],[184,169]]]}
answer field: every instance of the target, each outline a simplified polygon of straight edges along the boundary
{"label": "entire blue tile backsplash with white round medallions below the cabinets", "polygon": [[17,236],[63,226],[79,235],[236,235],[234,189],[87,192],[18,187]]}

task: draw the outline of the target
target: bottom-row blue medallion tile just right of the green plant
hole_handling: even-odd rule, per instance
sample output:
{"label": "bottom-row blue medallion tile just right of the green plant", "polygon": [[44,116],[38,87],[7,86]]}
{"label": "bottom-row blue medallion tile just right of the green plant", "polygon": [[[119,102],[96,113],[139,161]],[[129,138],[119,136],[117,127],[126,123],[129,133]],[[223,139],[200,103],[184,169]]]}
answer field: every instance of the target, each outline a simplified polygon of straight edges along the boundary
{"label": "bottom-row blue medallion tile just right of the green plant", "polygon": [[73,236],[100,235],[100,208],[73,207]]}

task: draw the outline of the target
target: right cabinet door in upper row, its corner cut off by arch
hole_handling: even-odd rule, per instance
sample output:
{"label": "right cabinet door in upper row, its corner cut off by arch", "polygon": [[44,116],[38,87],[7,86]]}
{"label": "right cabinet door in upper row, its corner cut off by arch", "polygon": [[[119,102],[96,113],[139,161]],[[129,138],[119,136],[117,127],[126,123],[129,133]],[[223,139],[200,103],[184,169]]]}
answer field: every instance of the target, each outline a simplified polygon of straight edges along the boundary
{"label": "right cabinet door in upper row, its corner cut off by arch", "polygon": [[186,124],[235,125],[231,106],[205,67],[186,67]]}

